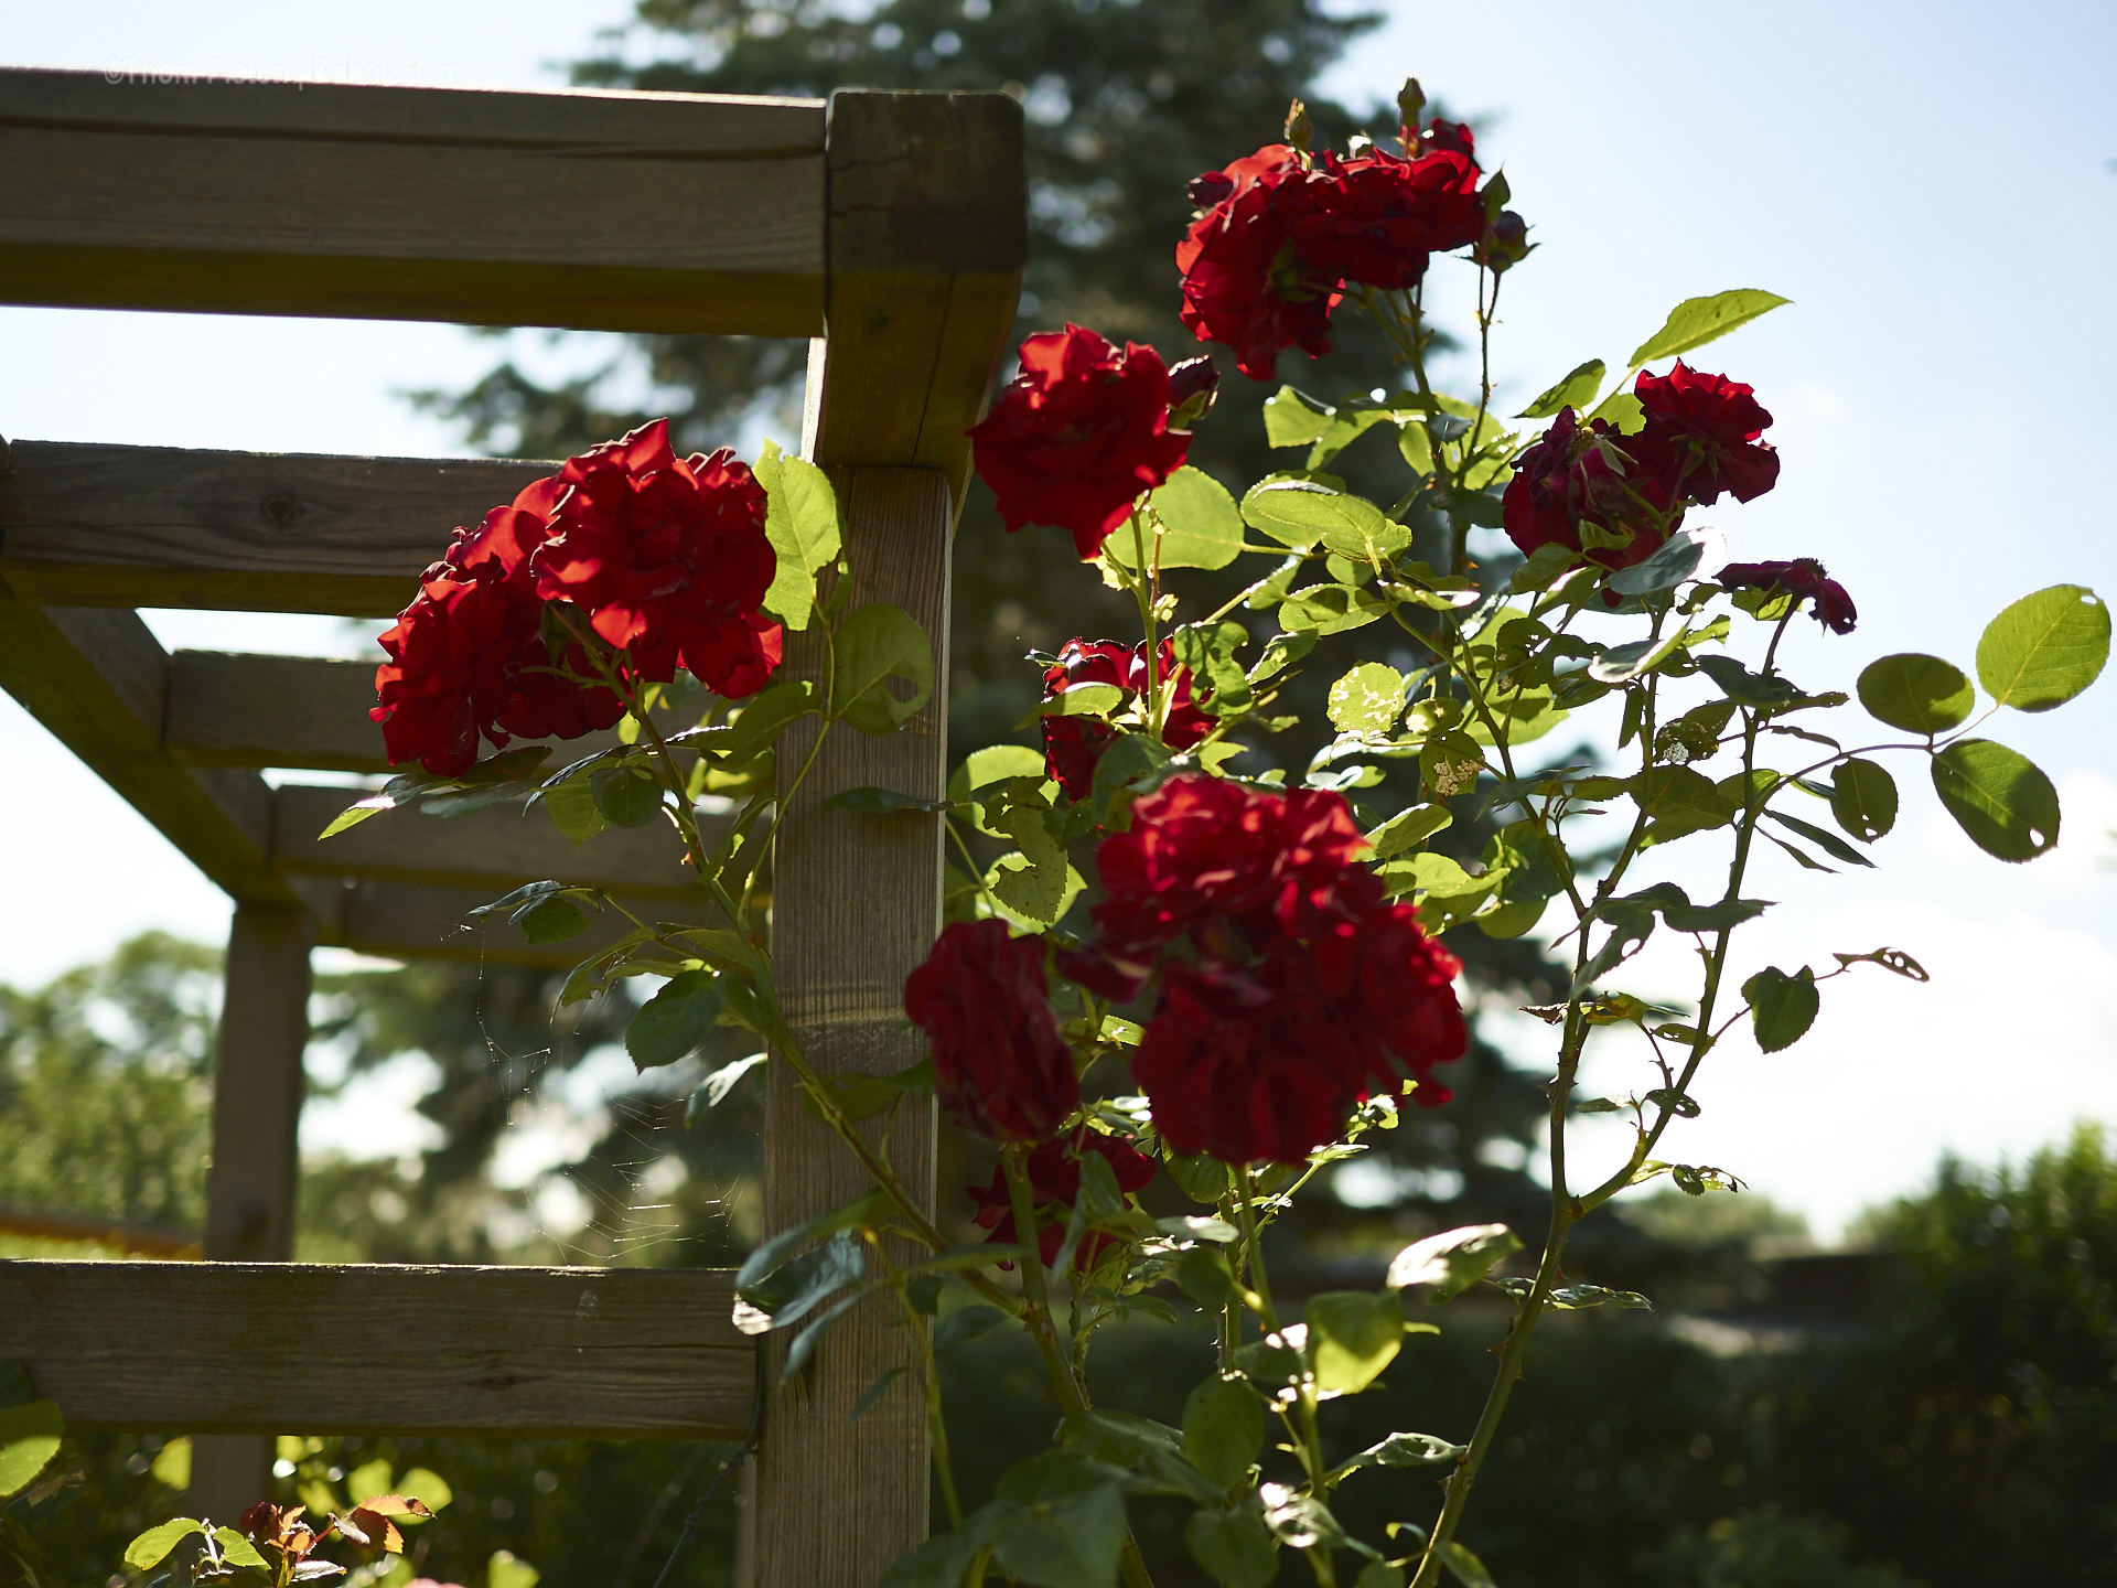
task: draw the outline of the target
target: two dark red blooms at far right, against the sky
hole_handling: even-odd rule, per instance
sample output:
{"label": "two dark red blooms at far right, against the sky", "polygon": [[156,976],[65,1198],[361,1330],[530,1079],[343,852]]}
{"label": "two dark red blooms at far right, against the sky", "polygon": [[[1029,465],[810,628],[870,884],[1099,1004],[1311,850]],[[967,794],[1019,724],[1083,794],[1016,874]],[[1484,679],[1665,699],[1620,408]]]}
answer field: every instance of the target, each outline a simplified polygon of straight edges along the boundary
{"label": "two dark red blooms at far right, against the sky", "polygon": [[1501,510],[1524,555],[1564,546],[1609,570],[1630,567],[1668,540],[1687,504],[1749,502],[1778,483],[1778,453],[1759,440],[1772,415],[1753,387],[1679,358],[1668,375],[1641,373],[1632,394],[1643,413],[1636,434],[1560,409],[1514,462]]}

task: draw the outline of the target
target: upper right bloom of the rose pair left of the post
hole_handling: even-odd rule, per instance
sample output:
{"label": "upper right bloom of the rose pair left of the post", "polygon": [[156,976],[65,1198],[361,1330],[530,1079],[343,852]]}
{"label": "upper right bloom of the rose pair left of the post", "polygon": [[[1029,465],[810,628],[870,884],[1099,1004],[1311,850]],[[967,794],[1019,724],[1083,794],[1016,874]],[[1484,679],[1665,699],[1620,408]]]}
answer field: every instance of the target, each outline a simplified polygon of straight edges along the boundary
{"label": "upper right bloom of the rose pair left of the post", "polygon": [[582,608],[641,678],[669,682],[682,663],[718,694],[764,688],[781,635],[758,608],[779,559],[749,468],[726,447],[677,457],[656,419],[569,457],[559,483],[538,595]]}

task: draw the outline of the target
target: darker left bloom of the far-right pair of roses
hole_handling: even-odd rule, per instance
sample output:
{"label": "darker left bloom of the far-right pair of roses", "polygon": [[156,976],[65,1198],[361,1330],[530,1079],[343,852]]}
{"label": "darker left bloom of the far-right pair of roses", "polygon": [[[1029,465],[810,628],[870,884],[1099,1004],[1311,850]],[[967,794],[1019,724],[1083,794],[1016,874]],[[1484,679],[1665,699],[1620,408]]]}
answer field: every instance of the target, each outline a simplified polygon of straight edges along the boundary
{"label": "darker left bloom of the far-right pair of roses", "polygon": [[[1636,440],[1620,436],[1607,419],[1590,419],[1584,430],[1573,409],[1560,409],[1552,428],[1514,459],[1501,498],[1507,540],[1524,557],[1539,546],[1567,546],[1603,567],[1651,557],[1683,515],[1670,515],[1668,483],[1641,468]],[[1581,525],[1598,534],[1584,538]],[[1622,534],[1630,534],[1626,544],[1607,544]]]}

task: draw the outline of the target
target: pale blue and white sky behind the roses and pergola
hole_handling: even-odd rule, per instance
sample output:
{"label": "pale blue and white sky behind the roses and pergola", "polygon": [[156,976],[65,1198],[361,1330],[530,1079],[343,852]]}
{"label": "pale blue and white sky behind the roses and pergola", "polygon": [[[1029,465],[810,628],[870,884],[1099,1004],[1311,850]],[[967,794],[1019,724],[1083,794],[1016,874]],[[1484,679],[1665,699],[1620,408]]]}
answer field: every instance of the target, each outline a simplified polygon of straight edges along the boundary
{"label": "pale blue and white sky behind the roses and pergola", "polygon": [[[2041,584],[2117,591],[2104,440],[2117,6],[1389,11],[1329,87],[1387,95],[1414,72],[1490,114],[1480,152],[1505,163],[1543,243],[1507,279],[1503,394],[1584,358],[1622,360],[1683,296],[1793,299],[1698,362],[1757,387],[1785,457],[1770,498],[1706,517],[1742,559],[1823,557],[1861,606],[1850,639],[1797,627],[1804,684],[1846,686],[1886,650],[1969,661],[1984,620]],[[622,15],[603,0],[0,0],[0,59],[533,87],[563,80],[555,64]],[[459,453],[394,392],[462,383],[491,351],[447,326],[0,309],[0,434]],[[339,637],[318,620],[157,622],[186,644]],[[1937,978],[1878,976],[1827,999],[1816,1033],[1778,1059],[1730,1048],[1672,1150],[1833,1228],[1914,1184],[1943,1145],[1988,1158],[2077,1114],[2117,1120],[2113,730],[2117,684],[1992,724],[2068,796],[2060,851],[2034,866],[1969,851],[1905,779],[1880,872],[1768,870],[1766,896],[1787,908],[1759,930],[1757,963],[1895,942]],[[0,925],[0,978],[34,982],[148,923],[224,930],[218,891],[4,701],[0,756],[11,881],[36,898]],[[1636,1080],[1613,1057],[1605,1084]]]}

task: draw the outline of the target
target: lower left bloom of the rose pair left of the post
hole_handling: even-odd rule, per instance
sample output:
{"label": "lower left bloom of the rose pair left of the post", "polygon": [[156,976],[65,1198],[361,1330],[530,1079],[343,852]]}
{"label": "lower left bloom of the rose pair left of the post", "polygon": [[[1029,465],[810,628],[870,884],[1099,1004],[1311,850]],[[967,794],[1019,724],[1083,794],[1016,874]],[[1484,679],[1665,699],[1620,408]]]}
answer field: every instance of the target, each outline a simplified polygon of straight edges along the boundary
{"label": "lower left bloom of the rose pair left of the post", "polygon": [[[430,773],[457,777],[476,762],[481,735],[504,750],[510,735],[578,739],[625,716],[610,688],[561,678],[544,642],[529,561],[559,489],[553,479],[538,481],[476,529],[457,529],[442,561],[421,574],[419,595],[381,635],[390,661],[375,669],[379,705],[368,716],[383,728],[392,766],[419,760]],[[578,644],[563,661],[595,678]]]}

